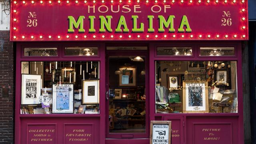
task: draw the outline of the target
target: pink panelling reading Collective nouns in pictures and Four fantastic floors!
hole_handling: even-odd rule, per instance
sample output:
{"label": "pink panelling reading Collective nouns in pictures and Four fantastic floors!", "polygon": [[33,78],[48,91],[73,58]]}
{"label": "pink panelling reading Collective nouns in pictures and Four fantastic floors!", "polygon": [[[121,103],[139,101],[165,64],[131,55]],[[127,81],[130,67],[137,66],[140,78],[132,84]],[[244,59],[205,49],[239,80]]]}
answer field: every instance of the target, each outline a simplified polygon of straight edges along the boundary
{"label": "pink panelling reading Collective nouns in pictures and Four fantastic floors!", "polygon": [[100,144],[100,127],[104,127],[99,117],[28,117],[20,122],[17,144]]}

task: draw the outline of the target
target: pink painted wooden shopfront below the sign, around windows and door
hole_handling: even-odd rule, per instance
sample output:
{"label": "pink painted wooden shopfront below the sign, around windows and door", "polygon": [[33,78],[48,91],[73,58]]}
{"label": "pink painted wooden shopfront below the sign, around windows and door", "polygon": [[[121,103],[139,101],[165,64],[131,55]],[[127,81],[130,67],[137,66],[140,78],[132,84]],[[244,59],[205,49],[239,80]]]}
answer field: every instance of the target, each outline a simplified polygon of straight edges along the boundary
{"label": "pink painted wooden shopfront below the sign, around windows and door", "polygon": [[[24,57],[22,49],[35,45],[39,47],[58,47],[56,57]],[[65,57],[63,48],[65,46],[93,46],[99,48],[97,57]],[[107,88],[107,62],[106,46],[147,46],[146,51],[137,51],[138,54],[146,55],[146,133],[144,134],[108,134],[108,100],[106,100]],[[156,56],[158,46],[191,46],[194,55],[192,57],[159,57]],[[150,121],[170,120],[172,121],[172,143],[173,144],[243,144],[243,100],[242,100],[242,55],[241,42],[234,41],[200,41],[200,42],[18,42],[16,47],[16,111],[15,111],[15,143],[16,144],[41,144],[34,134],[43,130],[44,136],[49,144],[82,144],[76,140],[79,136],[72,135],[78,128],[86,129],[87,144],[148,144],[150,134]],[[235,56],[200,57],[200,47],[234,47]],[[112,52],[112,55],[129,55],[130,52]],[[110,53],[111,55],[111,53]],[[21,93],[21,61],[73,61],[95,60],[100,61],[100,114],[20,114]],[[232,60],[237,62],[238,79],[238,113],[193,113],[193,114],[156,114],[155,113],[155,61],[218,61]],[[34,131],[33,131],[34,130]],[[79,133],[79,132],[78,132]]]}

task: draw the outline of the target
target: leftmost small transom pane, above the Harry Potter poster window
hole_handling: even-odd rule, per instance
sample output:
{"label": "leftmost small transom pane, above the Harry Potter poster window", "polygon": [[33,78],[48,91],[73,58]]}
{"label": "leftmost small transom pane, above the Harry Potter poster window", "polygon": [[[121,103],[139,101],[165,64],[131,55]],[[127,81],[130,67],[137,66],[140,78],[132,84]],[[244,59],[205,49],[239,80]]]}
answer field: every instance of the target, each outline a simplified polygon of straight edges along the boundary
{"label": "leftmost small transom pane, above the Harry Potter poster window", "polygon": [[57,48],[24,48],[24,56],[58,56]]}

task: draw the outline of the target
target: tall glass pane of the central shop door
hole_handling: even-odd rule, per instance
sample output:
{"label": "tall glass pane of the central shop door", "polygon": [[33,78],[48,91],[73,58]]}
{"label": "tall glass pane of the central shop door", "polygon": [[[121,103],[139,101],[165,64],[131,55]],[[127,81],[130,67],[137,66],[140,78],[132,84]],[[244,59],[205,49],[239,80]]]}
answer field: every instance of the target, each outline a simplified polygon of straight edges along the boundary
{"label": "tall glass pane of the central shop door", "polygon": [[143,56],[109,58],[109,133],[145,133]]}

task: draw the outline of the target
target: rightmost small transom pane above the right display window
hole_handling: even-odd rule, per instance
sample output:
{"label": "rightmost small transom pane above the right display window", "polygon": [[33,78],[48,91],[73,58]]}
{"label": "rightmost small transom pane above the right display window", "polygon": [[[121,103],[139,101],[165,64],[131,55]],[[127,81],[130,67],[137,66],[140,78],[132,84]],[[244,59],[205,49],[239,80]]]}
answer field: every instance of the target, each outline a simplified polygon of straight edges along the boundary
{"label": "rightmost small transom pane above the right display window", "polygon": [[235,56],[235,48],[200,48],[200,56]]}

